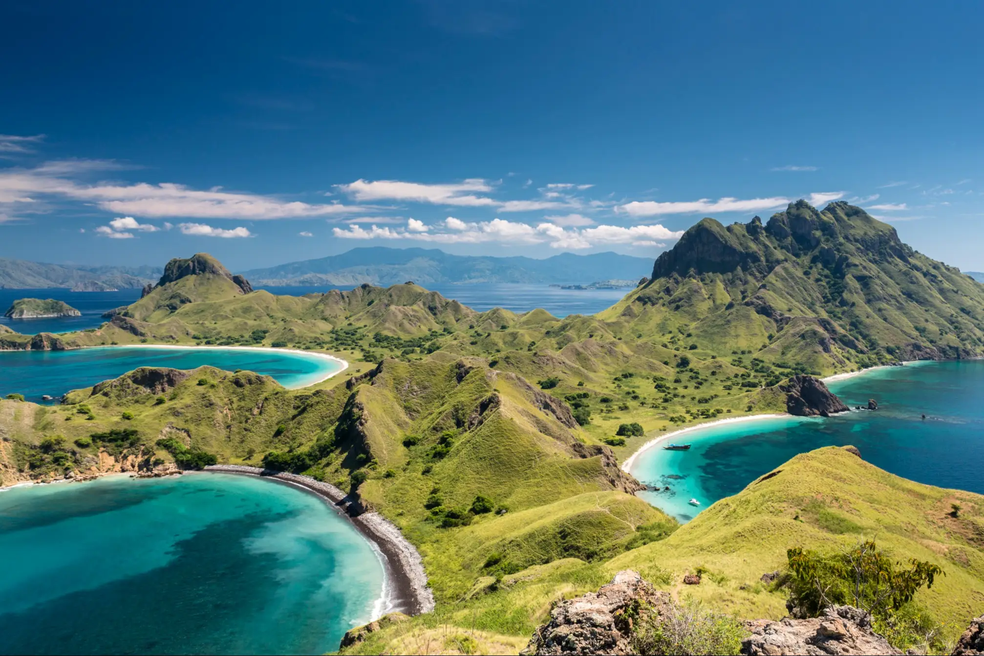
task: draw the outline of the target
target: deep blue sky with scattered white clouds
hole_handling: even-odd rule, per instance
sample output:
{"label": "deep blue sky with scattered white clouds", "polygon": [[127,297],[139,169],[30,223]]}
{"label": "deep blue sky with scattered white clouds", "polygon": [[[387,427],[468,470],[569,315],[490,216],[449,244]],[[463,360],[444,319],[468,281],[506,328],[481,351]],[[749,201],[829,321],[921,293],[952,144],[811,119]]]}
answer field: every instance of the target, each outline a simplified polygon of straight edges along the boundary
{"label": "deep blue sky with scattered white clouds", "polygon": [[806,198],[984,270],[984,4],[285,4],[3,3],[0,257],[654,257]]}

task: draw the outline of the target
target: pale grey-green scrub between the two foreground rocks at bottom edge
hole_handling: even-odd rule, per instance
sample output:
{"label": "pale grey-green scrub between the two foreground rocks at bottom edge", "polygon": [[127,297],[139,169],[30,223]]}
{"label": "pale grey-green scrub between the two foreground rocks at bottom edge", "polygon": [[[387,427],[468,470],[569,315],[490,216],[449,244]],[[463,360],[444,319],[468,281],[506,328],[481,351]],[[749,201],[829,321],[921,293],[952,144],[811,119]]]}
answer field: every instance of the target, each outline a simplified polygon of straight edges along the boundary
{"label": "pale grey-green scrub between the two foreground rocks at bottom edge", "polygon": [[700,602],[670,602],[660,615],[643,614],[632,646],[638,654],[738,654],[747,634],[740,622]]}

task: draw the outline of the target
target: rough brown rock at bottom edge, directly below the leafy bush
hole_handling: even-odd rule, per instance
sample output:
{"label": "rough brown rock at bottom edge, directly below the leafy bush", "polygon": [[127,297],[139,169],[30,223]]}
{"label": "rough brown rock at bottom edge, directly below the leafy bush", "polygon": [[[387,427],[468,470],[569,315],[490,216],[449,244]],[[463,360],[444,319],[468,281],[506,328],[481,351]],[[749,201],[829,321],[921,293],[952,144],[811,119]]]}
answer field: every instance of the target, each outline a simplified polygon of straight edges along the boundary
{"label": "rough brown rock at bottom edge, directly below the leafy bush", "polygon": [[829,608],[809,620],[756,620],[745,626],[752,635],[742,641],[741,653],[753,656],[902,653],[872,629],[867,613],[850,606]]}

